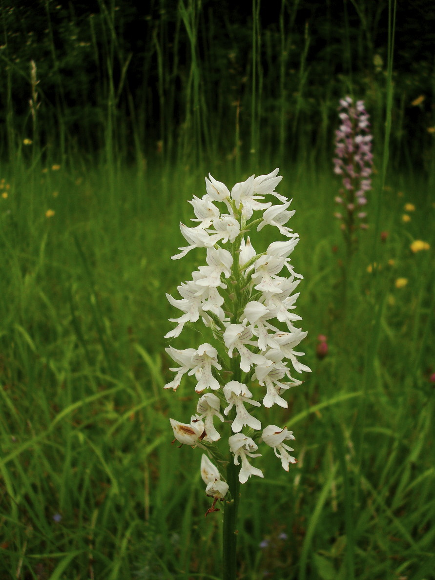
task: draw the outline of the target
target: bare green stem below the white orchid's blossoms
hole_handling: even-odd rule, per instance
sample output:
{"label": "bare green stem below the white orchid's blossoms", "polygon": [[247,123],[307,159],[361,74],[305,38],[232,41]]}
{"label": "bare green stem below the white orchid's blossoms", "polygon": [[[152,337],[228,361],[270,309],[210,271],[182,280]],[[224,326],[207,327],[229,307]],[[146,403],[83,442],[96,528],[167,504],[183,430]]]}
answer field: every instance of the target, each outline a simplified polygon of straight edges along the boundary
{"label": "bare green stem below the white orchid's blossoms", "polygon": [[225,503],[223,512],[223,580],[235,580],[237,573],[237,510],[240,496],[238,472],[240,467],[234,465],[234,455],[230,453],[227,467],[227,484],[231,494],[230,501]]}

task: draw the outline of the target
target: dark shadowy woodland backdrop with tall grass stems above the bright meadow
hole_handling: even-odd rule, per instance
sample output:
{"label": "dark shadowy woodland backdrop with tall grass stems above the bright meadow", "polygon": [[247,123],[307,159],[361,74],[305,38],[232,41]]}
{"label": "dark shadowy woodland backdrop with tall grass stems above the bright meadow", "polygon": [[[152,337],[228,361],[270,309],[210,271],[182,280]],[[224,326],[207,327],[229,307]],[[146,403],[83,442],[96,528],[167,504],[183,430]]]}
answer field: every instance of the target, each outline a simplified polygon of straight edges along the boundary
{"label": "dark shadowy woodland backdrop with tall grass stems above the bright meadow", "polygon": [[[252,10],[231,0],[2,0],[1,155],[28,137],[90,157],[110,143],[131,160],[259,150],[326,158],[346,94],[365,99],[382,136],[389,18],[387,0],[253,0]],[[400,163],[430,160],[434,49],[434,3],[398,2],[391,144]]]}

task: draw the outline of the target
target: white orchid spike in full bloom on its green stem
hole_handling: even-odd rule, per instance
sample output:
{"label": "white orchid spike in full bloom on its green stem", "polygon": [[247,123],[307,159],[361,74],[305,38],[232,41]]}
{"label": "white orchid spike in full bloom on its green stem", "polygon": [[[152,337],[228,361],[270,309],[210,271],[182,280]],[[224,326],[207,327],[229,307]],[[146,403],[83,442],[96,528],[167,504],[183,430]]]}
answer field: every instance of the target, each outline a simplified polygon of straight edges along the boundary
{"label": "white orchid spike in full bloom on its green stem", "polygon": [[[180,224],[188,245],[172,256],[180,259],[203,248],[206,265],[179,285],[180,299],[166,295],[182,311],[179,318],[170,319],[176,327],[166,338],[176,338],[187,322],[200,319],[211,331],[211,342],[197,348],[166,347],[176,366],[171,368],[175,376],[165,389],[176,391],[186,375],[194,378],[199,396],[196,413],[190,423],[171,419],[171,425],[177,441],[205,451],[201,477],[206,495],[213,498],[206,515],[219,512],[216,505],[223,502],[224,580],[234,580],[237,572],[240,484],[252,476],[264,477],[252,465],[252,459],[262,455],[257,452],[258,444],[272,447],[285,470],[296,463],[289,454],[293,449],[284,443],[294,439],[293,433],[287,426],[262,429],[260,408],[274,404],[288,408],[283,395],[301,383],[291,373],[310,371],[298,360],[304,353],[295,350],[306,336],[293,325],[301,320],[293,310],[299,296],[294,291],[302,276],[293,270],[289,255],[299,237],[285,226],[294,212],[288,211],[291,200],[275,191],[282,179],[277,173],[278,169],[269,175],[252,175],[231,191],[211,175],[206,178],[207,193],[190,201],[195,213],[192,220],[198,224]],[[264,202],[266,196],[279,203]],[[251,220],[254,212],[262,212],[262,216]],[[266,251],[257,253],[246,234],[264,226],[276,227],[287,240],[272,242]],[[283,270],[288,277],[281,276]],[[261,396],[262,403],[258,401]],[[227,462],[223,460],[226,455]]]}

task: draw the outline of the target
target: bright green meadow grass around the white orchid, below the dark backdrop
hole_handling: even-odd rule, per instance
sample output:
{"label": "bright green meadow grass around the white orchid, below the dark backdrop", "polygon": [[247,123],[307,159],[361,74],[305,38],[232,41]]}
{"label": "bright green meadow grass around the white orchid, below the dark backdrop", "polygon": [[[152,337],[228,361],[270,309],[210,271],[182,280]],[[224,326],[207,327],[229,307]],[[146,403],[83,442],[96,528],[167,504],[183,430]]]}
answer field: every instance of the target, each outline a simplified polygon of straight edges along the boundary
{"label": "bright green meadow grass around the white orchid, below the dark backdrop", "polygon": [[[409,248],[418,238],[435,244],[427,186],[387,176],[379,268],[367,271],[371,227],[350,264],[343,310],[337,183],[328,171],[281,172],[302,238],[294,261],[305,275],[298,304],[313,374],[289,412],[267,411],[295,430],[299,464],[285,473],[266,452],[264,481],[242,486],[241,575],[427,577],[435,278],[433,250]],[[162,389],[170,375],[162,337],[173,315],[164,293],[199,259],[170,256],[182,242],[177,220],[189,212],[192,182],[198,195],[203,189],[200,173],[41,172],[23,162],[2,184],[10,187],[0,198],[0,575],[220,574],[222,523],[219,513],[204,519],[200,454],[170,444],[169,416],[190,416],[189,384],[177,396]],[[267,229],[262,235],[269,241]],[[396,288],[400,277],[408,284]],[[329,345],[322,360],[320,333]],[[186,346],[197,340],[186,335]]]}

